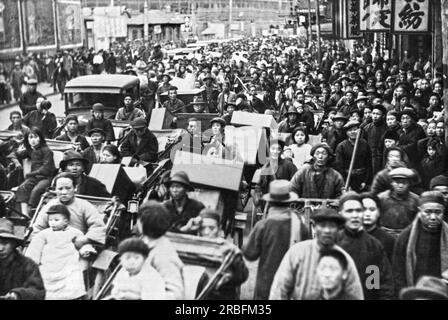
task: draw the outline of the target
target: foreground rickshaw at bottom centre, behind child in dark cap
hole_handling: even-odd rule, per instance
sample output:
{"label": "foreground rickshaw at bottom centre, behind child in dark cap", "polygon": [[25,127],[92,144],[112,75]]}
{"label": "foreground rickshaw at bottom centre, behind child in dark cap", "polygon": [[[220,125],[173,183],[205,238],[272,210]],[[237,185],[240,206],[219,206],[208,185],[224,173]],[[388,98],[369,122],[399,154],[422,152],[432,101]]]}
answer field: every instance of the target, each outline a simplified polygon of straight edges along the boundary
{"label": "foreground rickshaw at bottom centre, behind child in dark cap", "polygon": [[[216,289],[226,271],[232,265],[238,250],[232,247],[224,251],[224,239],[206,239],[198,236],[178,233],[167,233],[168,239],[174,245],[180,259],[184,263],[184,299],[203,300]],[[111,276],[104,283],[94,300],[102,300],[110,295],[113,280],[120,271],[118,264]]]}

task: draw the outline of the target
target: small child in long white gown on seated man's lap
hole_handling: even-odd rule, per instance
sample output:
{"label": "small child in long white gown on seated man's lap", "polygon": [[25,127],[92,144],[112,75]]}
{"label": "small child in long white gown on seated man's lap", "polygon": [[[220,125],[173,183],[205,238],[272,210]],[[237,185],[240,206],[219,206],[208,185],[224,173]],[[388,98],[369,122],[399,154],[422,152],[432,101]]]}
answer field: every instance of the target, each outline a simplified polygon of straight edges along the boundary
{"label": "small child in long white gown on seated man's lap", "polygon": [[68,225],[70,212],[64,205],[51,206],[47,214],[50,227],[33,237],[25,255],[39,265],[47,300],[82,299],[86,289],[80,255],[92,251],[91,245],[78,252],[76,239],[84,235]]}

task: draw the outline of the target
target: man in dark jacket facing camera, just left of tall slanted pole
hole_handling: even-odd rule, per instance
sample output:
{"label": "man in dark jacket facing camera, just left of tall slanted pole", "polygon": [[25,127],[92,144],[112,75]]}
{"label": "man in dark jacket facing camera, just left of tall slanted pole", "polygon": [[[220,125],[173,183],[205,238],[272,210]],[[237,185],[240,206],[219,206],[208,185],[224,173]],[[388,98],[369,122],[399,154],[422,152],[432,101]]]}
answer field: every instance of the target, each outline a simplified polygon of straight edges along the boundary
{"label": "man in dark jacket facing camera, just left of tall slanted pole", "polygon": [[334,154],[325,144],[315,145],[310,152],[313,159],[305,163],[291,179],[291,191],[300,198],[337,199],[344,188],[344,179],[331,168]]}

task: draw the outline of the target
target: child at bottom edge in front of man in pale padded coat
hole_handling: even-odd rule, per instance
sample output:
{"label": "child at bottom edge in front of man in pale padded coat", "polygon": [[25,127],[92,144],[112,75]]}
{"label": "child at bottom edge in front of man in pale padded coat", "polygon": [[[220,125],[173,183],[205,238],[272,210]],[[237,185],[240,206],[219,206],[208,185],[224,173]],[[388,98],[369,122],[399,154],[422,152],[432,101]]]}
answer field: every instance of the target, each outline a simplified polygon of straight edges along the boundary
{"label": "child at bottom edge in front of man in pale padded coat", "polygon": [[322,287],[318,300],[357,300],[345,291],[348,261],[339,250],[327,249],[321,252],[316,275]]}

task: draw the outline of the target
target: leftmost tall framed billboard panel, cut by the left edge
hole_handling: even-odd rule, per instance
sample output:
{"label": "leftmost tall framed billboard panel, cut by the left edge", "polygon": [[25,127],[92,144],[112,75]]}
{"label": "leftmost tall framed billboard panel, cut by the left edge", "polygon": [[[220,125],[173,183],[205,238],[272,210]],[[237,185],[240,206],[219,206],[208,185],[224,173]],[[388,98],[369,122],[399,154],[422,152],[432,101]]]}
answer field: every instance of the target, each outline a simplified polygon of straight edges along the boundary
{"label": "leftmost tall framed billboard panel, cut by the left edge", "polygon": [[0,0],[0,50],[20,49],[19,2]]}

